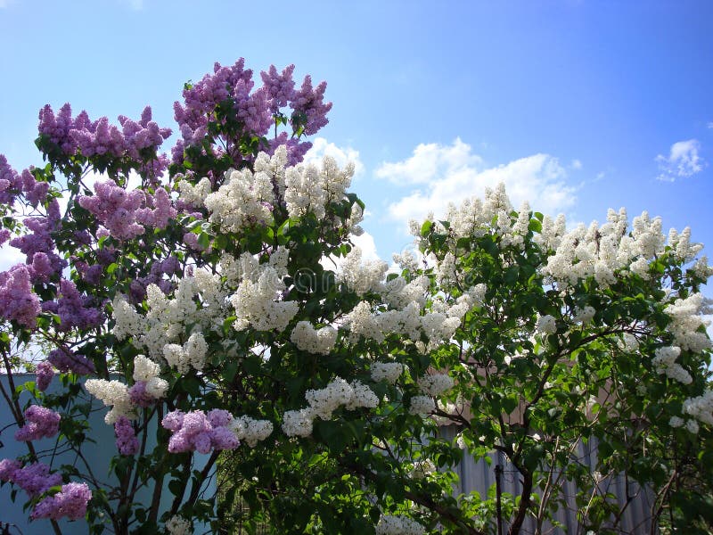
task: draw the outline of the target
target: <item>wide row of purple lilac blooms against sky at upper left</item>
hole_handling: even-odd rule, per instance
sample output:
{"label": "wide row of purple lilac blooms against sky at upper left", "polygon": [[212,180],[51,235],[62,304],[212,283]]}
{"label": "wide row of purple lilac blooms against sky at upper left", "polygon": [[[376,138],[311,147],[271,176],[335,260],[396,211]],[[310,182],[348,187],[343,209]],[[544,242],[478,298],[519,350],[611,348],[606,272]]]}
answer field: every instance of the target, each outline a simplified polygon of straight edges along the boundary
{"label": "wide row of purple lilac blooms against sky at upper left", "polygon": [[106,154],[117,158],[127,155],[133,160],[140,160],[146,149],[155,152],[168,136],[170,128],[159,128],[152,121],[151,106],[146,106],[141,119],[134,121],[119,116],[119,125],[109,124],[109,119],[92,121],[86,111],[81,111],[72,118],[70,104],[64,104],[55,115],[47,104],[39,112],[39,133],[60,146],[65,154],[80,151],[83,156]]}

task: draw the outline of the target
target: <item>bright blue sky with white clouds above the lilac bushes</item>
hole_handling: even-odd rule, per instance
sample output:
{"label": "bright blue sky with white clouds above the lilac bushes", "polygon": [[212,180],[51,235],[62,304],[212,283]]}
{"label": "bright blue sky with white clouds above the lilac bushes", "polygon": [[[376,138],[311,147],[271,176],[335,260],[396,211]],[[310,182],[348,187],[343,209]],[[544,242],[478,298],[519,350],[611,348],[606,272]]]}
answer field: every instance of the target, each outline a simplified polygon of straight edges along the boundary
{"label": "bright blue sky with white clouds above the lilac bushes", "polygon": [[707,0],[0,0],[0,153],[40,162],[45,103],[111,119],[148,103],[173,127],[213,62],[295,63],[327,80],[317,145],[360,163],[383,259],[408,218],[500,180],[516,205],[586,223],[649,210],[713,247],[710,21]]}

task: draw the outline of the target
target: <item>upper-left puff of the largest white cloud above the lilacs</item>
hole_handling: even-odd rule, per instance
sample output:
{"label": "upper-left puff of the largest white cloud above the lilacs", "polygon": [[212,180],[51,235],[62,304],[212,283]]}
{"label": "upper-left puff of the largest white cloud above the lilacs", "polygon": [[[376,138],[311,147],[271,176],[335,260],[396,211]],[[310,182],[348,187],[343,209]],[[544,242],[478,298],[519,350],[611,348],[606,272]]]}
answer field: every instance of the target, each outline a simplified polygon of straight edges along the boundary
{"label": "upper-left puff of the largest white cloud above the lilacs", "polygon": [[414,149],[411,158],[396,163],[382,163],[374,175],[399,185],[430,184],[438,177],[476,169],[482,162],[478,155],[471,154],[471,145],[464,144],[456,137],[451,146],[420,144]]}

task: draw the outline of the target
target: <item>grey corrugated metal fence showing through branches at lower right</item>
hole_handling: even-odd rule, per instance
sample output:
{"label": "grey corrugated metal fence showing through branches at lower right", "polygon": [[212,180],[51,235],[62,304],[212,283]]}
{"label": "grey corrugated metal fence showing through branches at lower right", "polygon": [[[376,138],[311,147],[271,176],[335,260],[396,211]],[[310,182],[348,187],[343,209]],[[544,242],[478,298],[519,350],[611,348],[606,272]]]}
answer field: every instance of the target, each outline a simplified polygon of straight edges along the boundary
{"label": "grey corrugated metal fence showing through branches at lower right", "polygon": [[[444,439],[455,439],[455,426],[442,427],[441,436]],[[588,444],[581,443],[575,453],[578,462],[588,466],[591,473],[594,473],[596,467],[596,444],[594,440],[590,440]],[[456,494],[469,494],[472,491],[477,491],[481,497],[488,496],[488,489],[496,484],[496,465],[503,466],[504,473],[501,481],[503,492],[512,494],[513,497],[520,495],[522,485],[519,479],[519,473],[505,457],[498,452],[489,454],[491,463],[488,464],[486,459],[475,460],[467,453],[463,457],[463,463],[457,468],[460,476],[460,483],[455,489]],[[556,475],[556,474],[555,474]],[[623,474],[616,477],[603,479],[598,486],[602,493],[611,493],[617,497],[619,508],[627,504],[627,481]],[[537,492],[537,490],[536,490]],[[629,496],[633,497],[629,504],[621,514],[619,523],[616,527],[611,524],[607,527],[615,529],[615,531],[626,535],[642,535],[651,532],[651,510],[653,505],[653,497],[650,491],[641,489],[633,481],[629,481],[628,486]],[[580,527],[578,522],[578,507],[576,503],[577,487],[573,481],[567,481],[562,478],[559,496],[563,498],[567,506],[561,506],[553,513],[553,518],[561,527],[553,527],[552,523],[543,523],[540,530],[537,530],[537,522],[533,517],[528,517],[523,524],[520,533],[527,535],[584,535],[585,530]],[[611,519],[613,521],[613,518]],[[509,528],[508,523],[504,523],[504,532]]]}

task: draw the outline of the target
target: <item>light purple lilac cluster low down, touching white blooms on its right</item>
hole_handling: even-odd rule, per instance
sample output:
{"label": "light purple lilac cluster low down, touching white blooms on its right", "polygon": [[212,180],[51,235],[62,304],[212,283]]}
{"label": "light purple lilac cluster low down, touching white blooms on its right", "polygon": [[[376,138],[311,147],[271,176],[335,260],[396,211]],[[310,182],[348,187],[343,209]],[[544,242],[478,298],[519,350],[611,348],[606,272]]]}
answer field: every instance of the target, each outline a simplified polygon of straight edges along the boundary
{"label": "light purple lilac cluster low down, touching white blooms on its right", "polygon": [[222,409],[211,410],[208,415],[202,410],[189,413],[175,410],[164,416],[161,425],[173,432],[168,440],[171,453],[209,453],[211,449],[235,449],[240,445],[235,433],[227,427],[232,420],[233,416]]}

